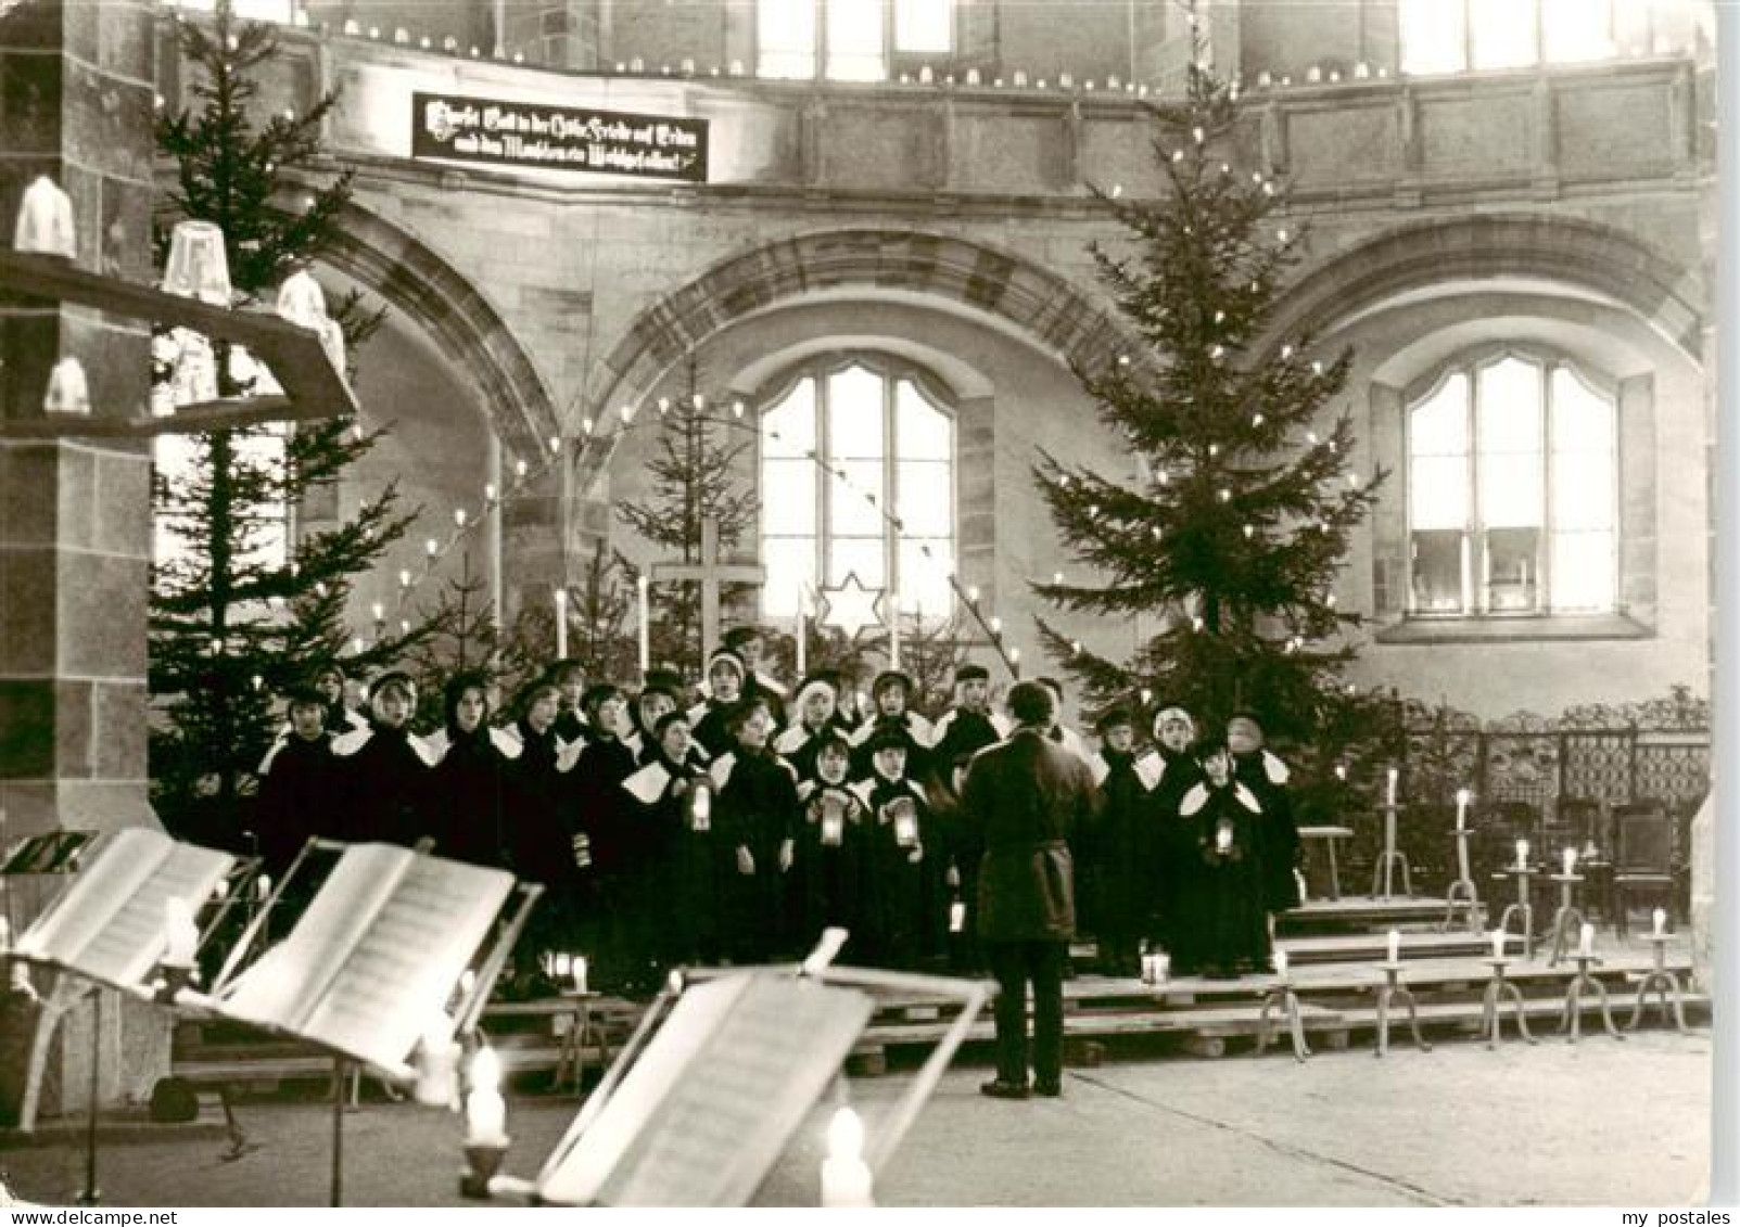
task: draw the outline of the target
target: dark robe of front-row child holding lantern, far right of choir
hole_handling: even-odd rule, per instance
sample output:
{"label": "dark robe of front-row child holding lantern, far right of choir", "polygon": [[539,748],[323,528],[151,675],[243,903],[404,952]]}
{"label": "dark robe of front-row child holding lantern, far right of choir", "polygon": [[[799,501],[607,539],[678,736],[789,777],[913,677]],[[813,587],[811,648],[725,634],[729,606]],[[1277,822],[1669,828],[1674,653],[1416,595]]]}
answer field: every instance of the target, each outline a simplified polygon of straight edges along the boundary
{"label": "dark robe of front-row child holding lantern, far right of choir", "polygon": [[[1180,805],[1194,848],[1181,874],[1178,949],[1187,975],[1268,970],[1263,812],[1237,780],[1190,786]],[[1225,831],[1225,845],[1221,843]]]}

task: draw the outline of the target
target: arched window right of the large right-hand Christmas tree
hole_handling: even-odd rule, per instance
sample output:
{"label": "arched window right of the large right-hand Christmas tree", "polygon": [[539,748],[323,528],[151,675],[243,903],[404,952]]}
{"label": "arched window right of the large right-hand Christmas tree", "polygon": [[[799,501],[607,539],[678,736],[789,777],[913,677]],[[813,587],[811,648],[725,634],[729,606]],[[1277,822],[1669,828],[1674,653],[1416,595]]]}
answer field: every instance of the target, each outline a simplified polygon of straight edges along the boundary
{"label": "arched window right of the large right-hand Christmas tree", "polygon": [[1408,403],[1409,612],[1611,612],[1616,440],[1615,393],[1563,358],[1439,372]]}

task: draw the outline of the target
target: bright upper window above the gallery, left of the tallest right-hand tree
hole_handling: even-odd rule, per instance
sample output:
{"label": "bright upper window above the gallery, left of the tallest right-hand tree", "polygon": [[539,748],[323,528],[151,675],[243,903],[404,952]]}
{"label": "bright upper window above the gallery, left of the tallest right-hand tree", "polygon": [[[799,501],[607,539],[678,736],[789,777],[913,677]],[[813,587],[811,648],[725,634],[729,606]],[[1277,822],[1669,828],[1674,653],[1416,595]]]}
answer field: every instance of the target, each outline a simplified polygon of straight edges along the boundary
{"label": "bright upper window above the gallery, left of the tallest right-hand tree", "polygon": [[884,82],[898,56],[954,49],[954,0],[755,0],[759,76]]}

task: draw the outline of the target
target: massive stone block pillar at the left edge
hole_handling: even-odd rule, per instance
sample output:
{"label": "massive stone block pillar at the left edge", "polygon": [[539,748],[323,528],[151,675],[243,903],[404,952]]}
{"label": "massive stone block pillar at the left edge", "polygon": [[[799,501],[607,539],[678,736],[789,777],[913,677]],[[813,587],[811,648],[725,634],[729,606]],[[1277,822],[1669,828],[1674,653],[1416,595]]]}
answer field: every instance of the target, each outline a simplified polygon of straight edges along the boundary
{"label": "massive stone block pillar at the left edge", "polygon": [[[47,174],[73,198],[78,264],[146,280],[153,96],[146,0],[23,0],[0,9],[0,242],[9,242],[24,186]],[[47,370],[61,355],[84,363],[96,414],[130,415],[146,401],[148,344],[148,325],[137,320],[0,299],[0,415],[40,415]],[[148,549],[143,447],[0,441],[5,841],[155,826],[144,758]],[[26,892],[12,902],[19,914]],[[104,1010],[106,1100],[148,1090],[164,1071],[164,1027],[150,1011]],[[89,1038],[89,1015],[63,1036],[80,1031]],[[89,1039],[57,1045],[50,1086],[82,1088],[87,1055]]]}

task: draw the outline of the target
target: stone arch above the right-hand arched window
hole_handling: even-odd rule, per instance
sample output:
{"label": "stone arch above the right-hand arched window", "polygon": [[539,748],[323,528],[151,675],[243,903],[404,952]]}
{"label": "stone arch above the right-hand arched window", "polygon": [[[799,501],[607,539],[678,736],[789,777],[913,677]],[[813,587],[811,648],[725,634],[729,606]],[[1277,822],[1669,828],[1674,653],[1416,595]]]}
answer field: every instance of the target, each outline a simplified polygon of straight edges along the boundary
{"label": "stone arch above the right-hand arched window", "polygon": [[1496,276],[1549,278],[1625,304],[1703,360],[1703,276],[1632,235],[1547,214],[1491,214],[1399,226],[1324,261],[1282,295],[1270,335],[1322,334],[1338,320],[1406,290]]}

